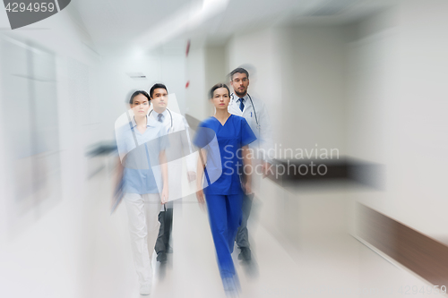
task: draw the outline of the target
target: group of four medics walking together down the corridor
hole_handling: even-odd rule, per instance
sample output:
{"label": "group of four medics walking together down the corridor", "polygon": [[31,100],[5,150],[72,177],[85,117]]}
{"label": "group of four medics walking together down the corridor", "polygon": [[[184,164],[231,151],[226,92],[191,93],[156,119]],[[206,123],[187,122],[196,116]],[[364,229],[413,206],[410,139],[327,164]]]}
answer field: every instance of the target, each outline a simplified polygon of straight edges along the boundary
{"label": "group of four medics walking together down the corridor", "polygon": [[[168,89],[163,84],[152,86],[149,94],[135,91],[129,98],[131,113],[125,114],[124,124],[116,125],[118,182],[129,218],[140,294],[151,294],[152,251],[162,263],[170,251],[172,201],[182,198],[183,158],[188,181],[196,181],[199,203],[206,202],[224,290],[228,296],[239,292],[231,253],[236,242],[238,260],[252,259],[247,219],[260,180],[245,166],[261,163],[263,173],[267,172],[271,158],[253,153],[270,151],[266,147],[271,146],[271,125],[263,102],[247,93],[246,69],[230,72],[230,84],[233,93],[226,84],[211,88],[215,114],[200,123],[193,142],[185,117],[168,109]],[[192,143],[199,154],[194,154]]]}

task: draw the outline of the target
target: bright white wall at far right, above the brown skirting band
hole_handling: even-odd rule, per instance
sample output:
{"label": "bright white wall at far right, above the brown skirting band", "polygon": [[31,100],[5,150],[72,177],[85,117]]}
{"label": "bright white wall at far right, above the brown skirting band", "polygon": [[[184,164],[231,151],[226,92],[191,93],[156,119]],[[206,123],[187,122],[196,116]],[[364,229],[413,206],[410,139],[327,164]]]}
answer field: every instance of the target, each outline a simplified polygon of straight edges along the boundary
{"label": "bright white wall at far right, above the brown skirting band", "polygon": [[358,199],[436,237],[448,226],[446,13],[445,1],[403,1],[349,45],[349,154],[387,171],[385,192]]}

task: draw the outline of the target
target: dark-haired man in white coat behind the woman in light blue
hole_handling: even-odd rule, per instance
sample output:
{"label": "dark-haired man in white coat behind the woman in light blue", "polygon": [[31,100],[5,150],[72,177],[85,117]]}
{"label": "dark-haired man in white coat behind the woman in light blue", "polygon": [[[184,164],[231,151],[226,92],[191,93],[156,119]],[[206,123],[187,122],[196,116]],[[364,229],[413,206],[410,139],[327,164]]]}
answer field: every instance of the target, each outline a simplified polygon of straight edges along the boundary
{"label": "dark-haired man in white coat behind the woman in light blue", "polygon": [[[186,173],[188,182],[196,179],[196,159],[189,136],[189,126],[185,117],[168,109],[168,89],[163,84],[154,84],[150,89],[153,110],[149,114],[150,121],[162,123],[168,133],[169,146],[166,149],[168,160],[169,202],[159,213],[159,236],[155,245],[157,260],[167,261],[169,238],[173,222],[173,200],[182,198],[181,175]],[[190,155],[190,156],[189,156]],[[185,158],[187,172],[183,171],[182,159]]]}

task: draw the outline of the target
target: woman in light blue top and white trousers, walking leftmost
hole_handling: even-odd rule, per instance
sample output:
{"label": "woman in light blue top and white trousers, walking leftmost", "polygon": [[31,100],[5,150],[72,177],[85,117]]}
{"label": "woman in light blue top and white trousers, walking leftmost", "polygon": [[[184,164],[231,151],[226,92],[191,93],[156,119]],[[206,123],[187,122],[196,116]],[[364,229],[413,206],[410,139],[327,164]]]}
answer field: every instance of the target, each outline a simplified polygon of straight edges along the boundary
{"label": "woman in light blue top and white trousers, walking leftmost", "polygon": [[142,295],[151,294],[151,258],[159,234],[159,211],[168,201],[167,132],[161,123],[148,117],[150,100],[145,91],[135,91],[129,99],[133,115],[126,111],[128,121],[116,123],[118,181]]}

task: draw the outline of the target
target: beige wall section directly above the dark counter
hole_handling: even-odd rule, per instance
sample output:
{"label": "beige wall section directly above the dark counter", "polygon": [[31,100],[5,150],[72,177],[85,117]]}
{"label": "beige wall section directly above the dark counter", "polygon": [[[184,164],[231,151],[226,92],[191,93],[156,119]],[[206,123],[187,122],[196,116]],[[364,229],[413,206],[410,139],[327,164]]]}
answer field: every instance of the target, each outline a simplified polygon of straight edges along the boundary
{"label": "beige wall section directly above the dark counter", "polygon": [[[345,30],[341,26],[284,30],[281,55],[284,146],[345,151]],[[317,146],[316,146],[317,145]]]}

